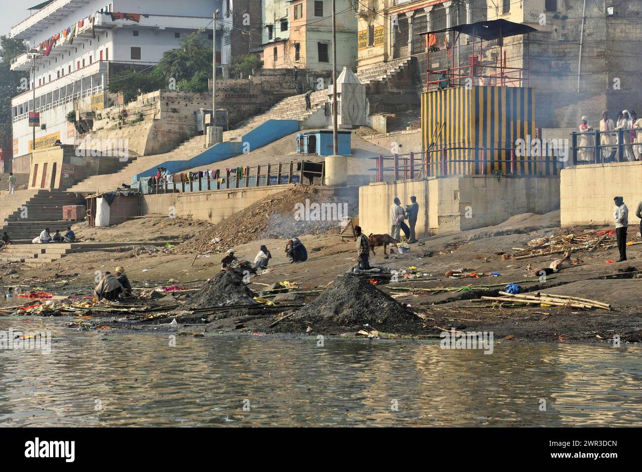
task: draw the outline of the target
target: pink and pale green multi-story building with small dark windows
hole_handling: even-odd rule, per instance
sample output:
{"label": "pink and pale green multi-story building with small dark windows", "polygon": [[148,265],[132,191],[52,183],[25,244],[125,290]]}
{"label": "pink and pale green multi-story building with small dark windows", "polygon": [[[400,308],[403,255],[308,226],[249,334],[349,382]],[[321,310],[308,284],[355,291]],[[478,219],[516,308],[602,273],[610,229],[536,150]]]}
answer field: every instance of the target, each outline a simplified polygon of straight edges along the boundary
{"label": "pink and pale green multi-story building with small dark windows", "polygon": [[[296,67],[308,71],[332,69],[331,0],[288,0],[288,37],[275,37],[263,47],[264,67]],[[265,3],[264,3],[265,5]],[[336,0],[336,66],[353,69],[357,56],[355,0]],[[279,10],[281,11],[281,10]],[[283,17],[281,17],[283,19]],[[284,23],[281,22],[281,30]],[[268,24],[269,27],[269,24]],[[282,31],[277,31],[277,35]]]}

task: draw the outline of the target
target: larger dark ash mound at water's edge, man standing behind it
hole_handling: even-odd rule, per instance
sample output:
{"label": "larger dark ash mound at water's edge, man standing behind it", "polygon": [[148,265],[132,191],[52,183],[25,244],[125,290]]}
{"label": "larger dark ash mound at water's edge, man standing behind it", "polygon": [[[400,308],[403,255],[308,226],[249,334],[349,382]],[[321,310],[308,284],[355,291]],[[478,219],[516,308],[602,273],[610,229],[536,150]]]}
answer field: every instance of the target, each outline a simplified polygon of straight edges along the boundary
{"label": "larger dark ash mound at water's edge, man standing behind it", "polygon": [[417,315],[390,295],[381,292],[367,279],[349,274],[337,277],[315,301],[292,315],[289,322],[315,328],[369,324],[374,328],[401,331],[422,326]]}

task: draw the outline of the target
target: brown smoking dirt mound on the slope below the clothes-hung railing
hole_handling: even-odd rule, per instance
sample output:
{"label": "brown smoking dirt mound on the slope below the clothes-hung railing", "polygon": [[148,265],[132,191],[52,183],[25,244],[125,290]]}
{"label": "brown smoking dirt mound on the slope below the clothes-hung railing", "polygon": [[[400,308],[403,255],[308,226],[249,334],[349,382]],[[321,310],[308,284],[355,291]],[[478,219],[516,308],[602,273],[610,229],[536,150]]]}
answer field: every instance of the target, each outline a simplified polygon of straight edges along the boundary
{"label": "brown smoking dirt mound on the slope below the clothes-hung railing", "polygon": [[[306,200],[308,200],[308,205],[306,205]],[[343,213],[343,210],[347,209],[349,216],[357,216],[359,209],[353,198],[338,198],[334,195],[327,195],[319,189],[297,186],[254,202],[214,227],[199,232],[193,238],[184,241],[175,248],[175,251],[198,254],[225,252],[230,247],[263,238],[292,238],[302,234],[338,232],[340,221],[336,220],[336,216],[334,216],[334,220],[329,221],[325,218],[324,221],[315,218],[315,214],[312,212],[313,207],[311,207],[315,203],[319,205],[336,204],[331,207],[331,209],[336,208],[334,213],[338,214],[339,209],[342,209]],[[309,220],[305,219],[305,215],[304,219],[297,219],[295,205],[307,206],[312,210],[309,213],[311,216]],[[332,216],[332,211],[330,213]],[[213,240],[219,241],[213,242]]]}

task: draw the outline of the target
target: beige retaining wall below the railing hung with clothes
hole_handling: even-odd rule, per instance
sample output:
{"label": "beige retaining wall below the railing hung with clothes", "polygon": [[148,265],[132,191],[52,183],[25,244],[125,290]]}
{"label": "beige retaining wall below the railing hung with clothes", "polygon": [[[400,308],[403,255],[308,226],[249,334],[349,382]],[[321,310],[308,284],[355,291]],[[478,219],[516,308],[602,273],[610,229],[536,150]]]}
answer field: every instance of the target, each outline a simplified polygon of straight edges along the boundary
{"label": "beige retaining wall below the railing hung with clothes", "polygon": [[275,185],[209,192],[144,195],[141,200],[141,215],[170,214],[173,211],[180,217],[191,215],[195,220],[218,223],[261,198],[293,187],[293,185]]}

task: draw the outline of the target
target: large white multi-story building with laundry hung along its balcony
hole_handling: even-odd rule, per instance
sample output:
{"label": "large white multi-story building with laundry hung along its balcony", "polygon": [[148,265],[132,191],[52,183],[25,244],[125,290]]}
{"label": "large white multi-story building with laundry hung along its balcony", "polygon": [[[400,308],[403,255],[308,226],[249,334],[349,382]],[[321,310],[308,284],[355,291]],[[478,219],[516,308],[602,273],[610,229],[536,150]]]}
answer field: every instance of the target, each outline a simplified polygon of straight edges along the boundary
{"label": "large white multi-story building with laundry hung along its balcony", "polygon": [[[40,112],[37,147],[73,144],[76,130],[67,123],[71,110],[86,112],[107,106],[110,73],[131,67],[150,68],[180,38],[200,28],[212,37],[214,10],[220,64],[229,64],[231,24],[225,15],[233,0],[51,0],[14,26],[11,37],[28,42],[44,55],[24,53],[12,69],[30,72],[25,91],[12,99],[13,156],[30,153],[28,112]],[[218,55],[217,55],[218,56]],[[218,57],[217,57],[218,58]],[[35,80],[31,74],[35,62]]]}

